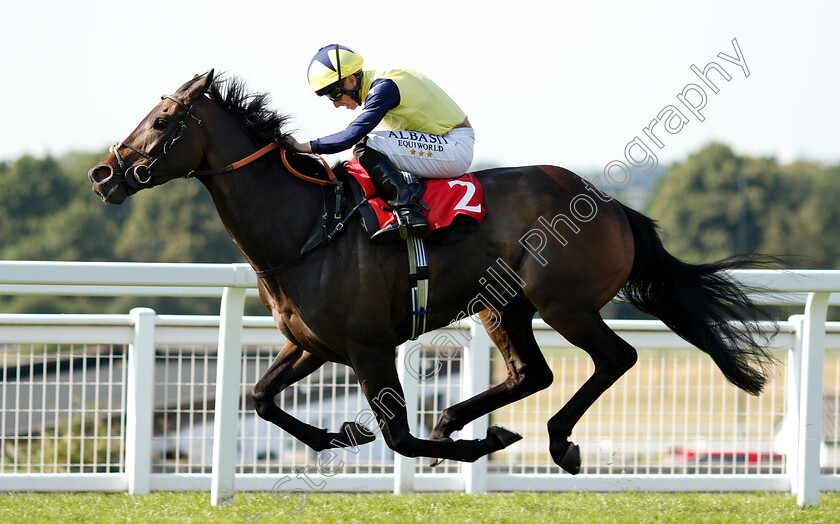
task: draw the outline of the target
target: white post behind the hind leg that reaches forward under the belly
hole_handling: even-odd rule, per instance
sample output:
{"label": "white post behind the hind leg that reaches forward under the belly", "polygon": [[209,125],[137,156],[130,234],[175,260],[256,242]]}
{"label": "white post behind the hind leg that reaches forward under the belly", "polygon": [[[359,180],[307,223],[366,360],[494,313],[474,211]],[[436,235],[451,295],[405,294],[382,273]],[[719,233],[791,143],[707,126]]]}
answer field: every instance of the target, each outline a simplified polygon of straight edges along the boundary
{"label": "white post behind the hind leg that reaches forward under the belly", "polygon": [[[469,344],[464,347],[464,356],[461,361],[463,399],[474,397],[490,387],[490,336],[484,329],[484,324],[477,321],[473,321],[470,327],[470,336]],[[462,432],[463,438],[470,440],[486,437],[489,420],[490,416],[484,415],[467,424]],[[465,492],[487,492],[486,456],[473,463],[464,462],[461,468]]]}

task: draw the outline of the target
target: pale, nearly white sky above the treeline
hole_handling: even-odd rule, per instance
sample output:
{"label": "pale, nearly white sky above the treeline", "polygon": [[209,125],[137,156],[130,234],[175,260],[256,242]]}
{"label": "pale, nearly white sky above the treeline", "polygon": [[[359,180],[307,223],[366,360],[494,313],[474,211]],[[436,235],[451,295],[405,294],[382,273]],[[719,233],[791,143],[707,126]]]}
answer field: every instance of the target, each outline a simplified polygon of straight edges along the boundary
{"label": "pale, nearly white sky above the treeline", "polygon": [[306,94],[306,68],[341,43],[443,87],[474,165],[647,169],[712,140],[840,163],[838,21],[828,1],[0,0],[0,161],[105,148],[211,68],[269,93],[298,140],[331,134],[357,113]]}

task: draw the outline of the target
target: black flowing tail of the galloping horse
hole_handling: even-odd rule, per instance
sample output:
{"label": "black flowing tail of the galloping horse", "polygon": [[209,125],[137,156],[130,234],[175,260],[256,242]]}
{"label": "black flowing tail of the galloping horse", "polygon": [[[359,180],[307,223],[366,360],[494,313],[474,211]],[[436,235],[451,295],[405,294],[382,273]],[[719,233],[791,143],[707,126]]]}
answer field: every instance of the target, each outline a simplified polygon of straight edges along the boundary
{"label": "black flowing tail of the galloping horse", "polygon": [[769,267],[777,259],[751,254],[711,264],[683,262],[665,250],[654,220],[623,207],[635,256],[622,295],[708,353],[734,385],[759,394],[767,381],[768,364],[774,361],[765,346],[775,333],[759,328],[757,319],[767,315],[726,272]]}

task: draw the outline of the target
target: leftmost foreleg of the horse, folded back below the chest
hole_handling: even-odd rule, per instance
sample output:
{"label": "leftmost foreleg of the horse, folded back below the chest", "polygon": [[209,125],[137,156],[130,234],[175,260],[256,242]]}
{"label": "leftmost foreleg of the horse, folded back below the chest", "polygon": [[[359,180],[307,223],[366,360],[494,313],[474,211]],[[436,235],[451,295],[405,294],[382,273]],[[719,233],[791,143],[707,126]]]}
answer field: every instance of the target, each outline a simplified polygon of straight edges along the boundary
{"label": "leftmost foreleg of the horse, folded back below the chest", "polygon": [[324,362],[324,359],[292,342],[286,342],[251,392],[254,409],[261,418],[289,432],[315,451],[354,447],[372,442],[375,437],[370,431],[365,431],[365,428],[355,422],[345,422],[338,433],[329,433],[325,429],[298,420],[274,403],[274,397],[278,393],[320,368]]}

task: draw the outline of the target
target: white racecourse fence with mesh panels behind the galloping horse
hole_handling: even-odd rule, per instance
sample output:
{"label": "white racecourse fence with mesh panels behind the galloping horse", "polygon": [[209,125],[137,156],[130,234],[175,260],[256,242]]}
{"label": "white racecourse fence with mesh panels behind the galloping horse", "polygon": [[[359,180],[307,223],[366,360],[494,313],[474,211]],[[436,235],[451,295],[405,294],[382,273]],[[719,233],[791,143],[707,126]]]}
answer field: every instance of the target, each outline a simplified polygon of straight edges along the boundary
{"label": "white racecourse fence with mesh panels behind the galloping horse", "polygon": [[[800,504],[816,504],[820,489],[840,489],[840,325],[825,322],[840,272],[736,276],[805,294],[804,314],[781,323],[774,343],[781,364],[766,392],[753,398],[725,384],[704,354],[659,322],[611,321],[640,350],[639,364],[576,428],[585,455],[583,472],[571,476],[551,463],[545,422],[591,367],[539,321],[555,384],[491,415],[523,433],[520,443],[489,460],[434,470],[394,457],[381,438],[325,461],[247,405],[245,393],[283,342],[270,318],[242,317],[244,297],[256,287],[248,266],[0,262],[2,294],[223,296],[219,317],[147,309],[0,315],[0,490],[210,489],[214,504],[231,500],[234,488],[790,490]],[[469,324],[401,348],[414,431],[427,433],[443,408],[503,378],[491,351],[483,329]],[[352,374],[332,364],[277,401],[332,430],[368,415]],[[491,417],[468,425],[461,438],[483,436]]]}

